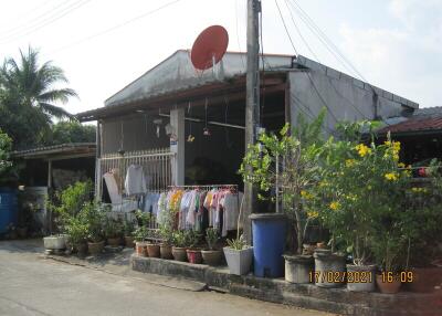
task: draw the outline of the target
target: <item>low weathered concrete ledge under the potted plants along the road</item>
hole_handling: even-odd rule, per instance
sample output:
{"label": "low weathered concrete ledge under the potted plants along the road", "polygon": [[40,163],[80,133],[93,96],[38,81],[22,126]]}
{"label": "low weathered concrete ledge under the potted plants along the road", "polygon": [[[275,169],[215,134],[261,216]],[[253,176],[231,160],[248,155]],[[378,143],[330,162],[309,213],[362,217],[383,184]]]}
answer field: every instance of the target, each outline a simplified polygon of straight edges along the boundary
{"label": "low weathered concrete ledge under the potted plants along the road", "polygon": [[347,291],[345,286],[322,288],[313,284],[291,284],[283,278],[262,278],[252,274],[238,276],[229,274],[227,267],[143,257],[136,254],[131,255],[130,263],[133,270],[138,272],[191,278],[230,294],[343,315],[436,316],[442,308],[441,289],[429,294],[355,293]]}

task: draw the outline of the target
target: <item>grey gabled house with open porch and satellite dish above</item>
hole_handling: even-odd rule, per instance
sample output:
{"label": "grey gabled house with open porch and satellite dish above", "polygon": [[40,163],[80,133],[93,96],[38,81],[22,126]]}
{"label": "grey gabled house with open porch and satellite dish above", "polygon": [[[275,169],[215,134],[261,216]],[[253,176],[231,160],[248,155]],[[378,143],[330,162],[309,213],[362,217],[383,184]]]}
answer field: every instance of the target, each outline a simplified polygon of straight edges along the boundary
{"label": "grey gabled house with open porch and satellite dish above", "polygon": [[[299,114],[328,108],[324,126],[337,120],[388,119],[419,107],[304,56],[260,59],[262,126],[278,130]],[[170,185],[239,183],[245,151],[244,53],[228,52],[213,70],[197,72],[188,51],[177,51],[105,102],[77,115],[97,120],[97,179],[113,168],[145,166],[151,189]],[[190,137],[189,137],[190,136]],[[193,141],[190,141],[192,136]],[[98,183],[101,194],[102,181]]]}

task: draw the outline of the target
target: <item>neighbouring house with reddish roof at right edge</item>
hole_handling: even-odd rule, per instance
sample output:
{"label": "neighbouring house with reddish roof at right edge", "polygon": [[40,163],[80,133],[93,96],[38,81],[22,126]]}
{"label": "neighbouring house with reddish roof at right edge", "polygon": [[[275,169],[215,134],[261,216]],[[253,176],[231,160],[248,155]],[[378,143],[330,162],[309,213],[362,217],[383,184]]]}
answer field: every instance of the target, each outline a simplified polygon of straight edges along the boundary
{"label": "neighbouring house with reddish roof at right edge", "polygon": [[387,122],[378,134],[385,138],[390,131],[391,138],[401,143],[403,162],[425,166],[432,158],[442,159],[442,107],[418,108]]}

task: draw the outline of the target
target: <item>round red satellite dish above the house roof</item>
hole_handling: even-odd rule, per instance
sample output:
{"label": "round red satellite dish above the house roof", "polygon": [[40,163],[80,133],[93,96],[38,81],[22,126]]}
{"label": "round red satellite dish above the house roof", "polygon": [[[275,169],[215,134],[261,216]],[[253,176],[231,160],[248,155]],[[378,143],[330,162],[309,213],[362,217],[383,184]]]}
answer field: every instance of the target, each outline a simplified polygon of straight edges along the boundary
{"label": "round red satellite dish above the house roof", "polygon": [[222,59],[228,45],[228,31],[221,25],[209,27],[194,40],[190,60],[197,70],[208,70]]}

